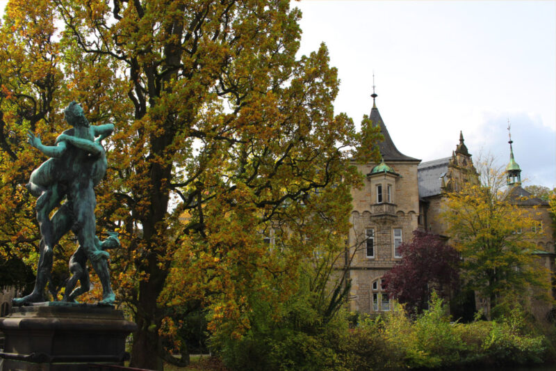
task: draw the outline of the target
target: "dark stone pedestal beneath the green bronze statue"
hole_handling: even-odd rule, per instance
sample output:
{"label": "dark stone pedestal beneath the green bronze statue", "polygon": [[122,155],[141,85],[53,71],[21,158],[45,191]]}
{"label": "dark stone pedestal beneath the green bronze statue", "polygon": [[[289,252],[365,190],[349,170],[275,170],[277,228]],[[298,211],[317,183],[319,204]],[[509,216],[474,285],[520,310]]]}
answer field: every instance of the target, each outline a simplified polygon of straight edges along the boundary
{"label": "dark stone pedestal beneath the green bronze statue", "polygon": [[60,302],[14,307],[0,318],[6,336],[0,371],[88,370],[123,365],[125,339],[137,326],[112,306]]}

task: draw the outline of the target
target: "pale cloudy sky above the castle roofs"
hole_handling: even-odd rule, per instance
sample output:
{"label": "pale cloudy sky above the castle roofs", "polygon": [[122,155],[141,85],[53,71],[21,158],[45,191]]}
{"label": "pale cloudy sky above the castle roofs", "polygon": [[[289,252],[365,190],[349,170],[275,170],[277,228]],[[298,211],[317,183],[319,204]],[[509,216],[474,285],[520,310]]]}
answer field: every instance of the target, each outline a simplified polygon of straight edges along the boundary
{"label": "pale cloudy sky above the castle roofs", "polygon": [[[0,0],[0,13],[6,6]],[[556,1],[292,1],[301,54],[325,42],[336,113],[377,107],[400,152],[448,157],[460,130],[475,158],[509,161],[524,184],[556,187]]]}

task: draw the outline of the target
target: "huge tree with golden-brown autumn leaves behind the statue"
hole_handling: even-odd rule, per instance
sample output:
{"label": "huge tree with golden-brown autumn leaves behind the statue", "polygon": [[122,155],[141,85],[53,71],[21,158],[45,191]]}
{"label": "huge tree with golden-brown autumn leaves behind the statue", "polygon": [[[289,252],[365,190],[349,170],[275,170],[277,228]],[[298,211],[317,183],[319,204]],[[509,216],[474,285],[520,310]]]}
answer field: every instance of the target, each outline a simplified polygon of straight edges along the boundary
{"label": "huge tree with golden-brown autumn leaves behind the statue", "polygon": [[72,100],[90,123],[113,123],[97,225],[120,232],[111,271],[139,327],[133,366],[161,367],[160,334],[179,325],[172,308],[201,301],[209,328],[240,336],[251,297],[286,301],[315,246],[343,248],[349,189],[361,182],[349,160],[376,156],[379,134],[334,114],[325,45],[296,56],[300,16],[288,0],[8,3],[2,251],[37,258],[24,184],[44,158],[24,144],[26,130],[54,143]]}

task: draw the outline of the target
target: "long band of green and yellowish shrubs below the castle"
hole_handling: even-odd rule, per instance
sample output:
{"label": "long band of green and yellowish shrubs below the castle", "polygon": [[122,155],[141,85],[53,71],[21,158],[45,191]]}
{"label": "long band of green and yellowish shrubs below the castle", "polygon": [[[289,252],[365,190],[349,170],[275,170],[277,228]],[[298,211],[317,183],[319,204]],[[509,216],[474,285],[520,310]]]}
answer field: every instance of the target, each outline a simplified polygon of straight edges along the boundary
{"label": "long band of green and yellowish shrubs below the castle", "polygon": [[[461,365],[525,364],[543,361],[551,344],[530,326],[521,309],[496,321],[451,322],[433,294],[429,309],[411,318],[398,303],[378,317],[340,311],[324,321],[297,298],[277,321],[260,307],[254,326],[220,350],[232,370],[368,371],[451,368]],[[357,318],[357,324],[351,322]],[[556,333],[556,331],[555,331]]]}

